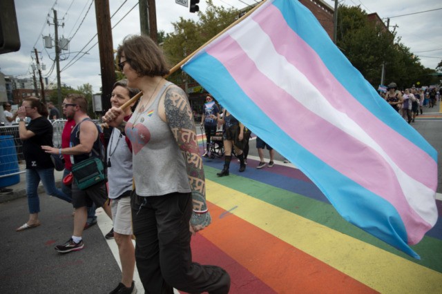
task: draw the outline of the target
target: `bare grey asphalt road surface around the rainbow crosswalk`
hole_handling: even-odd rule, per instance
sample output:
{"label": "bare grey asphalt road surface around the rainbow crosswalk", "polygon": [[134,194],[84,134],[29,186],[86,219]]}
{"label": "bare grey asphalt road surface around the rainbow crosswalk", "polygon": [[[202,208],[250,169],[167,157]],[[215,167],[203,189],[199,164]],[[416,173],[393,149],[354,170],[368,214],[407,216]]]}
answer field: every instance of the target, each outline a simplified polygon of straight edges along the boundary
{"label": "bare grey asphalt road surface around the rainbow crosswalk", "polygon": [[[438,105],[439,106],[439,105]],[[427,115],[436,108],[424,108]],[[412,123],[427,141],[438,150],[439,187],[441,183],[442,116]],[[257,156],[251,141],[251,156]],[[265,151],[268,156],[267,150]],[[282,160],[276,155],[277,160]],[[28,218],[27,199],[22,197],[0,204],[0,293],[109,293],[121,277],[119,265],[103,235],[110,224],[100,230],[93,226],[84,232],[85,250],[61,255],[54,246],[70,237],[73,229],[73,208],[54,197],[41,194],[42,226],[16,233],[15,228]],[[102,212],[99,212],[102,214]],[[100,215],[100,226],[106,216]],[[113,242],[115,243],[115,242]],[[115,253],[115,252],[114,252]],[[141,290],[141,289],[140,289]],[[140,291],[142,293],[142,291]]]}

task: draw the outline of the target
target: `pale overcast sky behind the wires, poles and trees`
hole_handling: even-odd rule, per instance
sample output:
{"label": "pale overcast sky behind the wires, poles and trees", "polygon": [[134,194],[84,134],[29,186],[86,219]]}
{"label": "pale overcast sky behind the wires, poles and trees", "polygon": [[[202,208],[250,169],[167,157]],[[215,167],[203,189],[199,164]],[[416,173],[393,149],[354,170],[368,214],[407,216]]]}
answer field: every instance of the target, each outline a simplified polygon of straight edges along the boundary
{"label": "pale overcast sky behind the wires, poles and trees", "polygon": [[[334,1],[324,1],[334,7]],[[238,9],[256,2],[258,0],[213,0],[217,6]],[[113,47],[117,48],[126,35],[140,33],[138,0],[109,0],[109,3],[111,15],[115,13],[111,22],[112,26],[115,26]],[[398,36],[402,38],[401,42],[421,58],[423,66],[436,68],[441,61],[442,10],[435,10],[442,8],[440,0],[344,0],[340,3],[348,6],[361,5],[367,13],[377,12],[382,19],[390,17],[390,26],[397,25],[396,28],[391,27],[390,30],[395,29],[398,32]],[[93,91],[98,92],[102,82],[99,76],[98,45],[93,46],[97,43],[97,37],[94,37],[97,25],[93,0],[15,0],[15,6],[21,49],[18,52],[0,55],[0,71],[5,75],[31,77],[33,48],[37,48],[41,52],[39,53],[40,63],[43,62],[46,65],[44,77],[48,77],[49,82],[57,84],[55,67],[51,70],[55,50],[54,48],[45,49],[42,39],[47,35],[54,37],[54,26],[47,24],[47,21],[53,23],[53,8],[57,10],[59,23],[64,23],[64,27],[59,27],[59,37],[72,38],[69,51],[63,51],[64,54],[61,55],[62,59],[66,59],[60,61],[61,83],[73,88],[89,83],[93,85]],[[190,13],[189,8],[180,6],[175,3],[175,0],[157,0],[156,6],[158,30],[172,32],[171,23],[177,21],[179,17],[197,20],[196,14]],[[199,6],[200,10],[204,11],[205,1],[201,0]],[[435,11],[423,12],[425,10]],[[88,11],[87,14],[86,11]],[[423,13],[416,14],[416,12]],[[127,14],[126,17],[124,17],[125,14]],[[396,17],[403,14],[412,15]],[[124,19],[119,22],[123,17]],[[78,53],[80,51],[88,52],[88,54]]]}

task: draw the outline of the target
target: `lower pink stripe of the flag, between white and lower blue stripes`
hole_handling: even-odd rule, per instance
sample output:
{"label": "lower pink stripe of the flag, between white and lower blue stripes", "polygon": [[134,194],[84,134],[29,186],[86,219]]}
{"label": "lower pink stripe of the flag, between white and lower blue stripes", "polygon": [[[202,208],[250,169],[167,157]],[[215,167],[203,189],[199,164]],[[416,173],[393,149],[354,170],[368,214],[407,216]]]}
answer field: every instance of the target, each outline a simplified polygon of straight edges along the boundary
{"label": "lower pink stripe of the flag, between white and lower blue stripes", "polygon": [[[246,95],[253,97],[256,105],[298,144],[339,173],[387,199],[398,210],[407,233],[411,234],[408,235],[409,242],[415,242],[422,237],[417,236],[421,231],[416,232],[414,228],[418,226],[431,228],[430,224],[410,208],[396,175],[383,157],[361,141],[329,124],[322,117],[318,117],[285,90],[279,88],[256,68],[255,63],[234,39],[226,37],[220,40],[217,46],[208,48],[207,53],[218,59]],[[236,56],[236,59],[232,59],[232,56]],[[238,61],[241,66],[238,66]],[[249,83],[250,80],[254,82]],[[260,97],[278,97],[278,103],[268,98],[259,99]],[[292,126],[302,126],[302,128]],[[352,192],[347,191],[347,193]]]}

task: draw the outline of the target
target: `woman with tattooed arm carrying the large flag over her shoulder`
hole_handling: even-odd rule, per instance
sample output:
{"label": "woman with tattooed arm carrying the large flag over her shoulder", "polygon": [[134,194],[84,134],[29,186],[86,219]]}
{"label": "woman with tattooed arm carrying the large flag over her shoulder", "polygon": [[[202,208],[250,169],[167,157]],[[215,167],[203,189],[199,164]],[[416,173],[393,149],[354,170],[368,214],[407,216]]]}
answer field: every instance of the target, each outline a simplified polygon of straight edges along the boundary
{"label": "woman with tattooed arm carrying the large flag over her shoulder", "polygon": [[135,259],[144,291],[228,293],[230,277],[224,269],[192,262],[191,232],[208,226],[211,216],[186,94],[163,78],[169,69],[162,50],[145,35],[126,37],[117,60],[127,86],[143,92],[127,123],[124,110],[115,106],[103,121],[132,143]]}

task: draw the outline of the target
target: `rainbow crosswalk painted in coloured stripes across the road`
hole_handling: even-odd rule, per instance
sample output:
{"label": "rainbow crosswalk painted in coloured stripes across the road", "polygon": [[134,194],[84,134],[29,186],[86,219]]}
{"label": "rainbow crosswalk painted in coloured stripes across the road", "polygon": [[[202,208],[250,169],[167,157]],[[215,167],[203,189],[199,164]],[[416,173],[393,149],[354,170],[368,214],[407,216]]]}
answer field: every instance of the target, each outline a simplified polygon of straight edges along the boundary
{"label": "rainbow crosswalk painted in coloured stripes across the road", "polygon": [[416,260],[345,222],[296,168],[257,164],[217,177],[222,159],[204,159],[213,223],[193,259],[226,268],[231,293],[442,293],[440,220]]}

